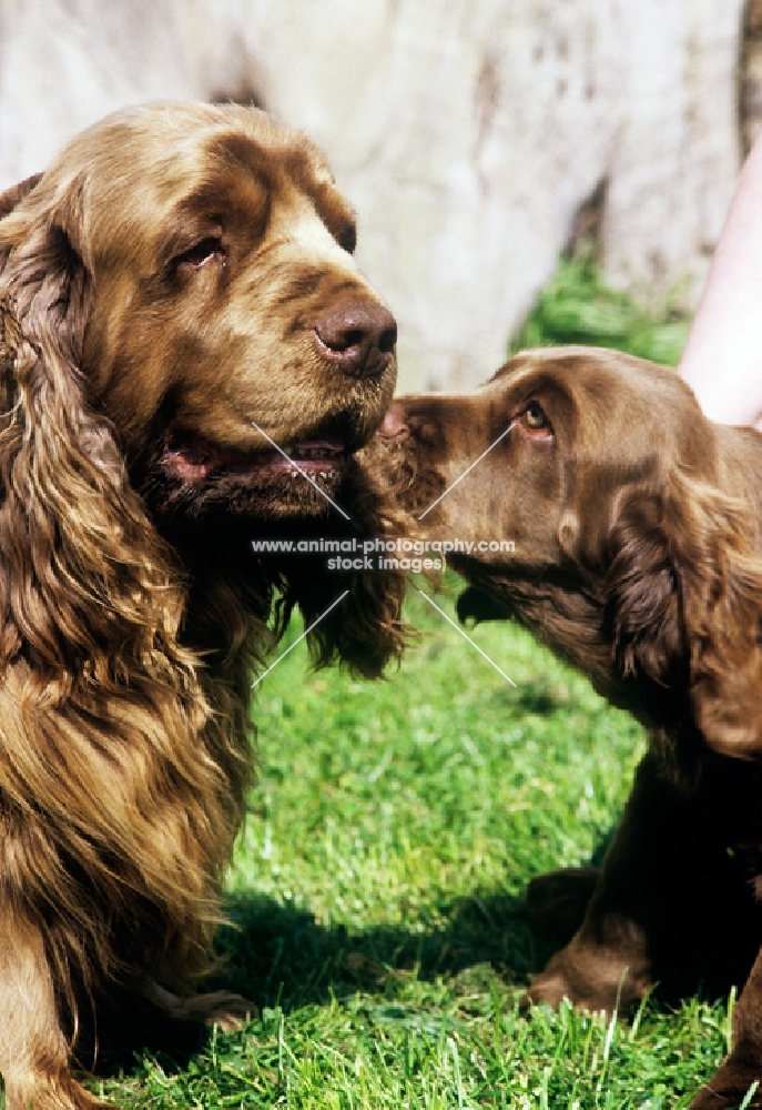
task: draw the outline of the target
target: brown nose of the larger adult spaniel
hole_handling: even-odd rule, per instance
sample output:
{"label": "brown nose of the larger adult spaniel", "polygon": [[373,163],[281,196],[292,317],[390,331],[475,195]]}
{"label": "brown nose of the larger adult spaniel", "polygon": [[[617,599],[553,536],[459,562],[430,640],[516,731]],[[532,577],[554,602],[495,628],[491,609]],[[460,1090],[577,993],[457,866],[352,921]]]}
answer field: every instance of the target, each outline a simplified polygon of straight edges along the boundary
{"label": "brown nose of the larger adult spaniel", "polygon": [[377,377],[392,362],[397,321],[382,304],[354,302],[314,327],[318,353],[349,377]]}

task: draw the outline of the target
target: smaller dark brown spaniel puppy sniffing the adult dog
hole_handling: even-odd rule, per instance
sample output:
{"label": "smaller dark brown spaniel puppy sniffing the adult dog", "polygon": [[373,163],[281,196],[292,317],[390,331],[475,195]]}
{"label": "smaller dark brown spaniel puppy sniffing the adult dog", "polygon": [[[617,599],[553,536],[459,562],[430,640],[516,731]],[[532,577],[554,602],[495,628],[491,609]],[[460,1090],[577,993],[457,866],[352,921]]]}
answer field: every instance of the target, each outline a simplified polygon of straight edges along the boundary
{"label": "smaller dark brown spaniel puppy sniffing the adult dog", "polygon": [[515,543],[450,556],[461,618],[515,617],[650,733],[581,927],[529,997],[610,1011],[745,953],[733,1051],[692,1106],[738,1103],[762,1079],[762,437],[712,425],[672,371],[581,347],[403,397],[383,434],[414,517],[496,444],[416,524]]}

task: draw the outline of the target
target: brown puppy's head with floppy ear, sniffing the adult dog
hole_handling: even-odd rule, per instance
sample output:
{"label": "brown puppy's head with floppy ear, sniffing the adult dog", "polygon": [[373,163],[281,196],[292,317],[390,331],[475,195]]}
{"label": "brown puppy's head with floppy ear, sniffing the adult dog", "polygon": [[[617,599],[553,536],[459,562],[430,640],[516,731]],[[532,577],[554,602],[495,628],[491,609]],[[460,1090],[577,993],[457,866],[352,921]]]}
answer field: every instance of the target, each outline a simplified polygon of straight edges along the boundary
{"label": "brown puppy's head with floppy ear, sniffing the adult dog", "polygon": [[707,421],[673,371],[569,347],[402,397],[382,437],[417,531],[454,545],[461,618],[516,616],[650,725],[690,698],[710,746],[762,748],[754,432]]}

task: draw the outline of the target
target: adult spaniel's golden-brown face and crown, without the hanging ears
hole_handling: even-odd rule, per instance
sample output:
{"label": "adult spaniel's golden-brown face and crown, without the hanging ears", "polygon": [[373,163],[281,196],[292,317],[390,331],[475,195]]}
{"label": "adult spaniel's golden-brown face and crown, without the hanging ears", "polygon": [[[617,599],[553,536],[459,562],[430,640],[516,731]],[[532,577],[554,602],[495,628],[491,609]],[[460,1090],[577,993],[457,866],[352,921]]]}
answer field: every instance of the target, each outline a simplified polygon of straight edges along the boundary
{"label": "adult spaniel's golden-brown face and crown, without the hanging ears", "polygon": [[396,327],[316,148],[257,111],[148,107],[28,184],[4,290],[152,467],[156,505],[322,512],[270,440],[335,494],[392,396]]}

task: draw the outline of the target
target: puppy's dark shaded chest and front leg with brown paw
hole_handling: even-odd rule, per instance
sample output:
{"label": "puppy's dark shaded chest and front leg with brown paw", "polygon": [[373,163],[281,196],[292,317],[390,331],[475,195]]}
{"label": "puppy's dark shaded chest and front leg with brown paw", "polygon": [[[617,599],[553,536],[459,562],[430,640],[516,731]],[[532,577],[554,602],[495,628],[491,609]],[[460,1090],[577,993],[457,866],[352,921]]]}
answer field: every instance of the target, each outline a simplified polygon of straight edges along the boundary
{"label": "puppy's dark shaded chest and front leg with brown paw", "polygon": [[[700,979],[713,989],[743,982],[756,950],[754,900],[728,847],[717,807],[680,791],[647,755],[582,925],[532,981],[528,1000],[557,1006],[566,997],[612,1012],[656,980],[678,997]],[[542,881],[535,880],[540,891]]]}

